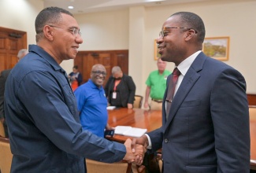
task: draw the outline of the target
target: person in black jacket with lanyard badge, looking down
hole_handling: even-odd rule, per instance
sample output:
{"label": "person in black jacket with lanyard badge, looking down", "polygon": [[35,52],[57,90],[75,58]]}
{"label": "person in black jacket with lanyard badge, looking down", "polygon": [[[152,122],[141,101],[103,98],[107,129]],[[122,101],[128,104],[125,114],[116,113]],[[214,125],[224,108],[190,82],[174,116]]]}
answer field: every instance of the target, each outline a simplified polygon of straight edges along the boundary
{"label": "person in black jacket with lanyard badge, looking down", "polygon": [[135,100],[136,86],[129,75],[124,75],[119,66],[112,68],[104,88],[109,105],[132,109]]}

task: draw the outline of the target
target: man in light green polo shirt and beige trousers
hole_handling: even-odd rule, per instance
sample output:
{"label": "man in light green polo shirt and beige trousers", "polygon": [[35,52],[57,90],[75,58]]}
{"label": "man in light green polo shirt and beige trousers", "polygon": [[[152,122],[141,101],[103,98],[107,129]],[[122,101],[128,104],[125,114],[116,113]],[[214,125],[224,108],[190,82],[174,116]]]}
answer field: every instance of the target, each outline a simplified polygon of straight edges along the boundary
{"label": "man in light green polo shirt and beige trousers", "polygon": [[[146,81],[147,89],[144,102],[144,108],[146,109],[161,110],[161,103],[166,89],[166,79],[171,74],[171,72],[165,70],[166,62],[161,61],[161,58],[158,58],[157,65],[158,70],[150,72]],[[148,102],[149,97],[151,98],[150,104]]]}

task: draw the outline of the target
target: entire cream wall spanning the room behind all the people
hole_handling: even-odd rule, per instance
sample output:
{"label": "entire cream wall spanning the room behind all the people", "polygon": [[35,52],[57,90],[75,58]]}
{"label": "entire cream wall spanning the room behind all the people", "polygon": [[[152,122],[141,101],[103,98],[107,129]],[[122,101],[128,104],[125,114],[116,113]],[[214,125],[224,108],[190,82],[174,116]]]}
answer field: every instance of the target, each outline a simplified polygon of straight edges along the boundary
{"label": "entire cream wall spanning the room behind all the people", "polygon": [[[80,50],[129,50],[129,75],[137,86],[136,94],[144,95],[147,75],[157,69],[154,39],[158,37],[161,25],[178,11],[197,13],[205,22],[206,37],[230,37],[229,60],[224,62],[244,75],[247,93],[256,94],[255,7],[255,0],[222,0],[175,6],[135,6],[126,10],[80,14],[75,18],[83,35]],[[1,27],[27,31],[28,44],[35,44],[34,22],[42,9],[41,0],[1,0]],[[73,61],[65,61],[61,66],[69,73]],[[173,63],[167,68],[172,71]]]}

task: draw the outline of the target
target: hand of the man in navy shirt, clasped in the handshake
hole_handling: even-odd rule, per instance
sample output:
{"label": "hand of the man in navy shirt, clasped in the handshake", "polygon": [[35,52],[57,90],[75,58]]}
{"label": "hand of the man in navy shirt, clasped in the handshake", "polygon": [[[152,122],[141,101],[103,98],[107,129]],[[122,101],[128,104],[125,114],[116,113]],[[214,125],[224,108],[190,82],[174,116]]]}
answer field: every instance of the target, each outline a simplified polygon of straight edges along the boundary
{"label": "hand of the man in navy shirt, clasped in the handshake", "polygon": [[124,160],[127,160],[128,163],[143,164],[143,157],[146,152],[145,147],[143,145],[135,145],[135,151],[132,152],[132,140],[129,138],[124,142],[124,145],[126,147]]}

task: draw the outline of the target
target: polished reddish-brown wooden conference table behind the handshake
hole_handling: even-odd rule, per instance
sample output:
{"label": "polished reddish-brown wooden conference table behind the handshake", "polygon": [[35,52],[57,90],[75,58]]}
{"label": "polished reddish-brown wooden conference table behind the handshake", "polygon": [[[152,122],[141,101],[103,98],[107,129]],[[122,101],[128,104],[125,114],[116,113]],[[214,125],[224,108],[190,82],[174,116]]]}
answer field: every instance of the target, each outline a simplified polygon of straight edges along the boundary
{"label": "polished reddish-brown wooden conference table behind the handshake", "polygon": [[[131,126],[147,128],[147,131],[154,131],[161,127],[161,111],[146,109],[125,109],[118,108],[108,110],[108,123],[112,127]],[[114,134],[110,140],[125,142],[128,136]],[[250,169],[256,170],[256,119],[250,119]]]}

